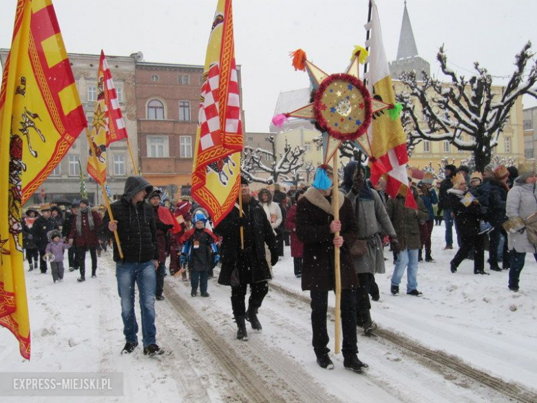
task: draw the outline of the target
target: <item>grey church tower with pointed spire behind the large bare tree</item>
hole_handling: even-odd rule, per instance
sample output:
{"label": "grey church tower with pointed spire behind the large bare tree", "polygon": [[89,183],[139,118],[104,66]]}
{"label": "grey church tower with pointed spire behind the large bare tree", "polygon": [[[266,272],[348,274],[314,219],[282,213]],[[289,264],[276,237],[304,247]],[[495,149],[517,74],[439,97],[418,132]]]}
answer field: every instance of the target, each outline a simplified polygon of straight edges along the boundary
{"label": "grey church tower with pointed spire behind the large bare tree", "polygon": [[392,79],[399,79],[401,72],[416,70],[417,78],[421,79],[421,70],[425,70],[427,74],[431,73],[431,65],[418,56],[418,48],[412,32],[408,9],[403,11],[403,23],[401,23],[401,34],[399,35],[399,47],[397,48],[397,60],[390,63],[390,74]]}

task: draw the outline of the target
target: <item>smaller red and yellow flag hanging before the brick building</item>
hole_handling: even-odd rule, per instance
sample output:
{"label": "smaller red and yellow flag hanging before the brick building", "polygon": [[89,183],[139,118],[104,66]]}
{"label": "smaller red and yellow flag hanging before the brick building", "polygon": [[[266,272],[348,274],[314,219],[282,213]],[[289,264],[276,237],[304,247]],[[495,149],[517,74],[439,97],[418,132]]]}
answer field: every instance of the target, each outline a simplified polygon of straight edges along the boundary
{"label": "smaller red and yellow flag hanging before the brick building", "polygon": [[[110,143],[127,138],[127,129],[119,105],[112,72],[108,67],[105,53],[101,50],[101,60],[97,74],[97,99],[95,101],[92,132],[88,141],[87,172],[98,182],[106,182],[106,150]],[[93,158],[95,149],[96,158]]]}

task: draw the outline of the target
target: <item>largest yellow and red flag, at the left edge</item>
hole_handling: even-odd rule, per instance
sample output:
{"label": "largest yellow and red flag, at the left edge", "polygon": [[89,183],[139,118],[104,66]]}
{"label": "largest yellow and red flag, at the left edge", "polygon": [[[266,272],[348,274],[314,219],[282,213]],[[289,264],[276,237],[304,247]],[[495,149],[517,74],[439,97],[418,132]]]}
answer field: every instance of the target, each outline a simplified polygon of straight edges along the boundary
{"label": "largest yellow and red flag, at the left edge", "polygon": [[87,125],[50,0],[19,0],[0,90],[0,324],[30,359],[22,205]]}

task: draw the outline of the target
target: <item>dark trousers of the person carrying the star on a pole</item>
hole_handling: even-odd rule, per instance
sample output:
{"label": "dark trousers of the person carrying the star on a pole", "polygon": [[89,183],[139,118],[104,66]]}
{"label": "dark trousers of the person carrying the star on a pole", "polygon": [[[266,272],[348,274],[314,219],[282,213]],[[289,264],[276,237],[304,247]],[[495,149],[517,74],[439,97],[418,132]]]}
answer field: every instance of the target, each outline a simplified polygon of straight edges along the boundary
{"label": "dark trousers of the person carrying the star on a pole", "polygon": [[[311,330],[312,344],[315,355],[328,353],[328,330],[326,329],[326,313],[328,311],[328,291],[310,291],[311,296]],[[344,357],[358,353],[356,336],[356,291],[341,290],[341,330],[343,344],[341,352]]]}

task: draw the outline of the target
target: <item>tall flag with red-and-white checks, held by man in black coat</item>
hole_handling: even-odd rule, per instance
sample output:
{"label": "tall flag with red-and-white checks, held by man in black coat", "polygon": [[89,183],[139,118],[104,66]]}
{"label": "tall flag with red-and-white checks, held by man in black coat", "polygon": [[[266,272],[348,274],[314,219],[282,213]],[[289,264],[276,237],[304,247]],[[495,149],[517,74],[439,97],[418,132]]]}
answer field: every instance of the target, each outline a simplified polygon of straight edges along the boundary
{"label": "tall flag with red-and-white checks, held by man in black coat", "polygon": [[231,0],[219,0],[203,73],[192,196],[218,225],[240,189],[242,123]]}

